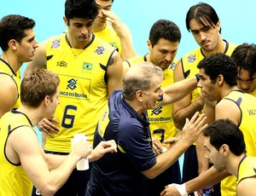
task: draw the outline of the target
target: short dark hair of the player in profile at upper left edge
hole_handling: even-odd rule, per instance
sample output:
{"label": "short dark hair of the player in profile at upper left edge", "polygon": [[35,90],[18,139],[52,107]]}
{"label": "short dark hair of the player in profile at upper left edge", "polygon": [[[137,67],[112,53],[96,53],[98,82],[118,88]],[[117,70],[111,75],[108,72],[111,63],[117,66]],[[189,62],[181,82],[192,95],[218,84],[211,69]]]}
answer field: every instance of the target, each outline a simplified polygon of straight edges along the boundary
{"label": "short dark hair of the player in profile at upper left edge", "polygon": [[15,39],[18,43],[26,37],[26,30],[36,26],[36,22],[22,15],[9,14],[0,20],[0,47],[3,51],[9,49],[9,41]]}

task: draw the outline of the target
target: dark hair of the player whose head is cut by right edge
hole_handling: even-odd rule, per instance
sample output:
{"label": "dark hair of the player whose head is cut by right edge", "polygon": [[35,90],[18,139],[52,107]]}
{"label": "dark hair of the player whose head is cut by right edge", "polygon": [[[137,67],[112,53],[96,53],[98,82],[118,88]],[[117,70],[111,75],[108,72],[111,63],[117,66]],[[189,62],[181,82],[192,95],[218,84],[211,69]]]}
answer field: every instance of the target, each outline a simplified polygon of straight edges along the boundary
{"label": "dark hair of the player whose head is cut by right edge", "polygon": [[231,58],[238,67],[247,70],[250,78],[256,73],[256,45],[254,43],[242,43],[233,51]]}

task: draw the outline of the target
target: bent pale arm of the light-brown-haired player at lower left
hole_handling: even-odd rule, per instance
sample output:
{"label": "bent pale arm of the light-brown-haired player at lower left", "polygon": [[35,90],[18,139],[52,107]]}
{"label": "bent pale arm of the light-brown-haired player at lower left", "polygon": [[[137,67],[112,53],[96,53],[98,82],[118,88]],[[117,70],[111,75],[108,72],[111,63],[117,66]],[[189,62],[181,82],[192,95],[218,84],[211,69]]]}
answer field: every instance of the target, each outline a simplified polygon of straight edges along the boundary
{"label": "bent pale arm of the light-brown-haired player at lower left", "polygon": [[50,162],[54,163],[50,159],[55,156],[51,155],[46,159],[47,155],[39,147],[37,135],[31,128],[20,127],[12,132],[9,135],[8,146],[9,159],[14,163],[21,163],[26,175],[43,195],[53,195],[67,181],[79,159],[87,157],[91,152],[90,141],[81,140],[73,146],[72,153],[67,155],[66,159],[62,159],[62,163],[60,156],[57,157],[57,162],[61,163],[59,167],[49,170],[55,167],[54,164],[48,165]]}

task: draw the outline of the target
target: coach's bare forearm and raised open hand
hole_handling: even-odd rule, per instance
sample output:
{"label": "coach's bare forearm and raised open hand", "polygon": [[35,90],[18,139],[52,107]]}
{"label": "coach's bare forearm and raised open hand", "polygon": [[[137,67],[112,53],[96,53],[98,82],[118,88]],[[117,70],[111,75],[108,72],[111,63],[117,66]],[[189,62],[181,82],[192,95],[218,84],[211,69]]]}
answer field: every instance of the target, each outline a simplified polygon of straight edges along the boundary
{"label": "coach's bare forearm and raised open hand", "polygon": [[186,119],[186,124],[183,128],[183,137],[180,141],[171,147],[166,153],[162,153],[156,158],[156,164],[149,170],[143,171],[143,175],[148,178],[154,178],[161,172],[169,168],[177,159],[185,152],[185,150],[197,139],[201,131],[207,127],[205,124],[206,118],[204,114],[198,117],[199,112],[196,112],[193,118],[189,121]]}

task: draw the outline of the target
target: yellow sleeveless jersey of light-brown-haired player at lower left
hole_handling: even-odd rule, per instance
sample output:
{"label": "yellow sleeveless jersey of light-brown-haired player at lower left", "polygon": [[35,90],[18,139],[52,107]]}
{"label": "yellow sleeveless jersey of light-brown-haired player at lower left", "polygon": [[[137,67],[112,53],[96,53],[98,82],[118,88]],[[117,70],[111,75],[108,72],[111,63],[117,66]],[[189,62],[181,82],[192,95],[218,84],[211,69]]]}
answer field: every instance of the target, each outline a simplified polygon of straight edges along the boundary
{"label": "yellow sleeveless jersey of light-brown-haired player at lower left", "polygon": [[5,154],[5,143],[9,135],[20,126],[32,128],[26,115],[15,110],[6,112],[0,120],[0,195],[27,196],[32,193],[32,182],[22,165],[11,163]]}

